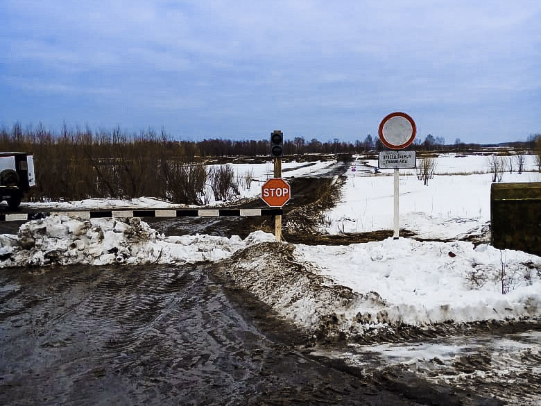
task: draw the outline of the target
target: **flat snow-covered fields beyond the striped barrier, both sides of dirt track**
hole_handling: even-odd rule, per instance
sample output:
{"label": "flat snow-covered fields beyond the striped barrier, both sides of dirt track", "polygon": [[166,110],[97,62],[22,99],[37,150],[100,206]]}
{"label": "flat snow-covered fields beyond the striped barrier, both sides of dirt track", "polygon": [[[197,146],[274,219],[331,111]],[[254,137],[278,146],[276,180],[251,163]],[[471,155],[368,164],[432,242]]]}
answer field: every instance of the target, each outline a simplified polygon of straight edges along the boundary
{"label": "flat snow-covered fields beyond the striped barrier, both sides of dirt track", "polygon": [[[479,233],[490,221],[490,185],[488,157],[481,155],[443,154],[436,162],[436,175],[429,185],[415,176],[413,169],[400,171],[400,228],[415,232],[418,237],[459,239],[461,235]],[[357,157],[352,164],[356,171],[347,171],[347,182],[341,201],[325,212],[325,232],[370,232],[393,229],[393,174],[381,170],[374,174],[377,160]],[[282,164],[284,178],[318,176],[336,161],[288,162]],[[239,179],[239,198],[257,198],[261,185],[273,176],[273,164],[231,164]],[[541,174],[534,171],[534,155],[526,155],[524,173],[506,172],[503,182],[540,182]],[[449,175],[452,174],[452,175]],[[246,179],[251,179],[247,181]],[[295,191],[293,190],[294,194]],[[214,201],[207,193],[211,205]],[[91,210],[112,208],[180,208],[154,198],[132,200],[93,198],[84,201],[22,203],[24,208],[43,210]]]}

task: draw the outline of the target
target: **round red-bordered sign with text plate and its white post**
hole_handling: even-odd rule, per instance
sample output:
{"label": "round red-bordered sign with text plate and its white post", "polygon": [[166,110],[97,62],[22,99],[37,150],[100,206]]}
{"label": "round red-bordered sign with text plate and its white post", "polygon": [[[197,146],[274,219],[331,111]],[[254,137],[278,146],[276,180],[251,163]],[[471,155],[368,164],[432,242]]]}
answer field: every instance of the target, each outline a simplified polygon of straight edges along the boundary
{"label": "round red-bordered sign with text plate and its white post", "polygon": [[[415,139],[415,121],[404,112],[392,112],[379,124],[379,139],[386,147],[400,150],[409,146]],[[394,239],[400,232],[399,196],[400,168],[415,168],[415,151],[381,151],[378,166],[381,169],[395,170],[394,196]]]}

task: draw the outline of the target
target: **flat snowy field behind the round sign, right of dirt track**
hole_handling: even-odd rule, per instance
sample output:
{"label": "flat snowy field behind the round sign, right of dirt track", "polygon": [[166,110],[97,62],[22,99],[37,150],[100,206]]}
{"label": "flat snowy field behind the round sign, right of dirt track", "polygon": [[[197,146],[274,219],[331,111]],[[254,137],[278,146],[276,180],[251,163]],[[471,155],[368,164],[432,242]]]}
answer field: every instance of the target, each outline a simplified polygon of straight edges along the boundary
{"label": "flat snowy field behind the round sign, right of dirt track", "polygon": [[[393,169],[374,174],[361,160],[357,161],[356,171],[347,171],[341,202],[325,213],[323,228],[330,234],[393,230]],[[377,161],[368,160],[366,164],[374,167]],[[534,167],[533,155],[526,155],[528,171],[506,172],[502,182],[540,182],[541,174],[534,172]],[[413,169],[401,169],[400,228],[419,237],[439,239],[454,239],[479,230],[490,221],[492,174],[488,171],[487,157],[441,155],[435,176],[424,186]]]}

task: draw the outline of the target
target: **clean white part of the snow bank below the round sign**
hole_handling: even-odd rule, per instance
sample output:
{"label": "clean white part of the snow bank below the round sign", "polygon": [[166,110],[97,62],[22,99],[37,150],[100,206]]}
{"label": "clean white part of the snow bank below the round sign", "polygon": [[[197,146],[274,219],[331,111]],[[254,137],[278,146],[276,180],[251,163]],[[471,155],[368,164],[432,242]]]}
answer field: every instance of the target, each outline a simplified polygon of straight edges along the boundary
{"label": "clean white part of the snow bank below the round sign", "polygon": [[[381,301],[345,314],[364,323],[427,325],[541,315],[541,258],[468,242],[386,239],[350,246],[297,246],[295,258],[331,285]],[[508,293],[502,294],[502,261]]]}

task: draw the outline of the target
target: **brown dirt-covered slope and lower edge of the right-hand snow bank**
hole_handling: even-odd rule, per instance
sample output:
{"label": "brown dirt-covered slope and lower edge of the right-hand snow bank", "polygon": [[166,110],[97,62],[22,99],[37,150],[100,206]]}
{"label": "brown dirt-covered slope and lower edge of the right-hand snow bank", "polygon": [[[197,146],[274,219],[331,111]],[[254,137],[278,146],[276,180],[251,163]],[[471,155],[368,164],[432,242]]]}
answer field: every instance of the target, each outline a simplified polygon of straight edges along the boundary
{"label": "brown dirt-covered slope and lower edge of the right-hand snow bank", "polygon": [[310,264],[299,262],[294,251],[293,244],[257,244],[237,251],[218,269],[234,285],[291,320],[314,343],[397,343],[541,328],[535,319],[429,325],[393,321],[387,314],[388,303],[379,294],[330,283]]}

